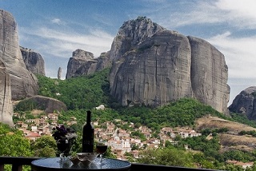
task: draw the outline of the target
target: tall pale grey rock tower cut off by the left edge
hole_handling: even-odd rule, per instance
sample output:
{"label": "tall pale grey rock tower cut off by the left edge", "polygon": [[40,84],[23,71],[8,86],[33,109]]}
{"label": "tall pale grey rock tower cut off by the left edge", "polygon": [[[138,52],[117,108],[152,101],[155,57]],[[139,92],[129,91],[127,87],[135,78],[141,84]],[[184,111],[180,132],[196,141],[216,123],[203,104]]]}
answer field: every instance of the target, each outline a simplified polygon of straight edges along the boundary
{"label": "tall pale grey rock tower cut off by the left edge", "polygon": [[18,28],[12,14],[0,10],[1,108],[0,121],[13,125],[12,100],[38,93],[38,80],[22,59],[18,45]]}

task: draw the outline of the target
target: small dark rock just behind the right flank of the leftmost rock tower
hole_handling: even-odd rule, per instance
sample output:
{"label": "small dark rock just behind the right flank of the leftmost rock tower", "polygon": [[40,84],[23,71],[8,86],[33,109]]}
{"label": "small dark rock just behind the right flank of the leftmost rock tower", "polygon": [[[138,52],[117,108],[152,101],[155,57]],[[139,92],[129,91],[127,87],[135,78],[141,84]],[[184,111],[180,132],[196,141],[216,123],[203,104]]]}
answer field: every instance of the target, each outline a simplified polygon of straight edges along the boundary
{"label": "small dark rock just behind the right flank of the leftmost rock tower", "polygon": [[26,65],[26,69],[33,74],[46,76],[45,61],[43,60],[41,54],[34,52],[34,50],[23,47],[20,47],[20,49],[22,52],[23,61]]}

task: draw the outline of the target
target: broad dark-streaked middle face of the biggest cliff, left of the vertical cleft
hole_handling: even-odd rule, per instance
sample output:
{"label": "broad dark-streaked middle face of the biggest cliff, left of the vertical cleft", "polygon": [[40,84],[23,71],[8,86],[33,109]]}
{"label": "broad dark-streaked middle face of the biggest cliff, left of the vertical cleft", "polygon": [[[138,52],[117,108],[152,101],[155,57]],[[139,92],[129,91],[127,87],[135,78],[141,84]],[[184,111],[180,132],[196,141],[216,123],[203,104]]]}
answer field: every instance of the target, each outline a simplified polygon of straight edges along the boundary
{"label": "broad dark-streaked middle face of the biggest cliff, left of the vertical cleft", "polygon": [[110,93],[122,105],[166,105],[181,97],[192,97],[190,43],[186,36],[170,30],[158,31],[112,66],[116,72]]}

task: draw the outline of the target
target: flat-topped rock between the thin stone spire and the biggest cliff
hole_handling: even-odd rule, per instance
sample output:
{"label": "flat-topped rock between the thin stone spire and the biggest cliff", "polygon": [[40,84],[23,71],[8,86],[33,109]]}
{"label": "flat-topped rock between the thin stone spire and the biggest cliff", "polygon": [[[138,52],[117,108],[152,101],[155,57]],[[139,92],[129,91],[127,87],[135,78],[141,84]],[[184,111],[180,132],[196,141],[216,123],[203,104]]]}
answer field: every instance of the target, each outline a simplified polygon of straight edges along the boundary
{"label": "flat-topped rock between the thin stone spire and the biggest cliff", "polygon": [[94,74],[96,71],[109,67],[110,60],[108,56],[109,53],[106,52],[102,53],[100,57],[94,58],[94,54],[88,51],[75,50],[67,65],[66,79]]}

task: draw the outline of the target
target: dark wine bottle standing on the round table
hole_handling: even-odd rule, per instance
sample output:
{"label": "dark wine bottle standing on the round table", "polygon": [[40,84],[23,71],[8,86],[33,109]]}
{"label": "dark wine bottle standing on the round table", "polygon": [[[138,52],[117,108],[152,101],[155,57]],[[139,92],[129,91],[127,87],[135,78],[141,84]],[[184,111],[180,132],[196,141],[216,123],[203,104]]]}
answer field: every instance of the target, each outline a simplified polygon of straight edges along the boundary
{"label": "dark wine bottle standing on the round table", "polygon": [[82,152],[94,152],[94,125],[91,124],[91,111],[87,111],[86,124],[82,128]]}

